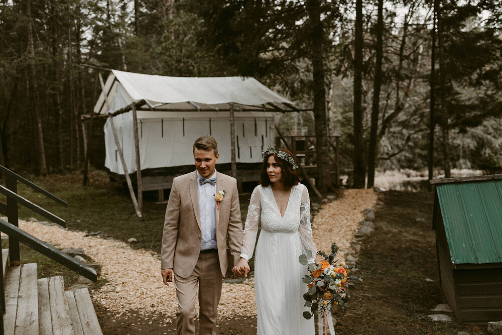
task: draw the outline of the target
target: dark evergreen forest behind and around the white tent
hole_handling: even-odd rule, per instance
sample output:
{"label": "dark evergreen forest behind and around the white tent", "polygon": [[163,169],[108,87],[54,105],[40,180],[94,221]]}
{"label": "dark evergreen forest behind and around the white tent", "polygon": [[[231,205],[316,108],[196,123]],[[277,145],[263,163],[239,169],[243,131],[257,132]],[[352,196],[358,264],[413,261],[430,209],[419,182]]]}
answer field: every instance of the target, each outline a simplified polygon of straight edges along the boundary
{"label": "dark evergreen forest behind and around the white tent", "polygon": [[[497,171],[500,18],[502,4],[483,0],[1,0],[0,162],[42,175],[83,168],[80,116],[101,91],[90,64],[254,76],[312,107],[276,123],[316,135],[319,169],[326,137],[340,136],[355,187],[366,175],[372,186],[375,169]],[[87,134],[96,168],[102,125]]]}

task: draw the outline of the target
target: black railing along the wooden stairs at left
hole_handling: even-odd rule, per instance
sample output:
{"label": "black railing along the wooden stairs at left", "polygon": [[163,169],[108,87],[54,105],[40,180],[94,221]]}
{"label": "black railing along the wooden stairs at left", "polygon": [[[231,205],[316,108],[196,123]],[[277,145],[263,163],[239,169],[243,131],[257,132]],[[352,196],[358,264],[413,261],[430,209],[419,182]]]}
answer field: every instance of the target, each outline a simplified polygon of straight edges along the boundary
{"label": "black railing along the wooden stairs at left", "polygon": [[[7,221],[0,219],[0,231],[7,234],[9,236],[9,255],[10,255],[10,265],[17,266],[20,265],[20,255],[19,255],[19,243],[23,243],[35,251],[49,257],[50,259],[66,266],[70,270],[73,270],[82,276],[96,282],[97,274],[96,271],[75,260],[74,258],[68,256],[67,254],[61,252],[60,250],[54,248],[48,243],[37,239],[36,237],[26,233],[22,229],[19,228],[18,221],[18,203],[33,210],[34,212],[48,218],[49,220],[55,222],[61,227],[66,228],[66,222],[62,218],[57,215],[54,215],[50,211],[36,205],[30,200],[25,199],[21,195],[18,194],[18,180],[30,188],[36,190],[39,193],[42,193],[46,197],[56,201],[57,203],[68,207],[68,203],[52,193],[49,193],[45,189],[41,188],[38,185],[35,185],[31,181],[21,177],[17,173],[9,170],[5,166],[0,165],[0,171],[5,172],[6,177],[6,187],[0,185],[0,193],[4,194],[7,197],[7,204],[0,202],[0,213],[7,215]],[[3,269],[2,269],[3,270]],[[4,317],[5,314],[5,287],[4,287],[4,273],[0,275],[0,289],[2,289],[2,293],[0,293],[0,334],[4,334]]]}

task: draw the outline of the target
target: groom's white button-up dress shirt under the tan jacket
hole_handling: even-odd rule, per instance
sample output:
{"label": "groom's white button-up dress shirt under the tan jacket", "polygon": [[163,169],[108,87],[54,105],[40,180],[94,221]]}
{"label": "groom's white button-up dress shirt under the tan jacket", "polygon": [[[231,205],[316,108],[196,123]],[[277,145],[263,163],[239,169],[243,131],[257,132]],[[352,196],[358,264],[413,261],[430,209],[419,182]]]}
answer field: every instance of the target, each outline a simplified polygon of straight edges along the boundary
{"label": "groom's white button-up dress shirt under the tan jacket", "polygon": [[[216,209],[216,200],[214,194],[216,193],[216,184],[211,185],[205,183],[201,185],[199,178],[206,179],[197,171],[197,192],[199,195],[199,212],[200,212],[200,230],[202,233],[202,241],[200,250],[217,249],[216,244],[216,221],[214,218]],[[207,178],[216,178],[216,170],[214,174]]]}

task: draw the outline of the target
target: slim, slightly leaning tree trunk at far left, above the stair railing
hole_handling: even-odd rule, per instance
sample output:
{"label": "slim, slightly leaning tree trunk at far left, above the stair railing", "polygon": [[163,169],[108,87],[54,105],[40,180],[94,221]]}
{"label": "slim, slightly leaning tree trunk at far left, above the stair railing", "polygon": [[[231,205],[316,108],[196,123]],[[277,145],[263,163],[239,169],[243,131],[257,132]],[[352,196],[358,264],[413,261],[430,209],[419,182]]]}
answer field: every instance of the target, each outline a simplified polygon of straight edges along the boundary
{"label": "slim, slightly leaning tree trunk at far left, above the stair railing", "polygon": [[26,14],[28,15],[28,54],[30,56],[30,76],[31,76],[31,87],[33,91],[33,97],[35,99],[33,103],[33,113],[35,114],[35,132],[37,137],[37,154],[39,163],[39,173],[41,175],[47,175],[47,164],[45,161],[45,147],[44,147],[44,132],[42,129],[42,117],[40,115],[39,109],[39,96],[38,96],[38,85],[37,85],[37,73],[35,71],[35,46],[33,43],[33,19],[31,17],[31,0],[26,2]]}

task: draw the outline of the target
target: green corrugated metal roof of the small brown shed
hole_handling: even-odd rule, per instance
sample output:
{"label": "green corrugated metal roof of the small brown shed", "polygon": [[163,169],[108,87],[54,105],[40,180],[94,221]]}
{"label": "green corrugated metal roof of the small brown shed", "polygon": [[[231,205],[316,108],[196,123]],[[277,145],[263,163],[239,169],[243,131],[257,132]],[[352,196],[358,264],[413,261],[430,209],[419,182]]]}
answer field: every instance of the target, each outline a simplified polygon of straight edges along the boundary
{"label": "green corrugated metal roof of the small brown shed", "polygon": [[436,185],[451,261],[502,263],[502,180]]}

